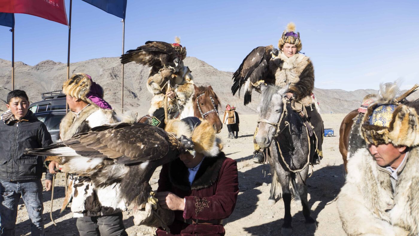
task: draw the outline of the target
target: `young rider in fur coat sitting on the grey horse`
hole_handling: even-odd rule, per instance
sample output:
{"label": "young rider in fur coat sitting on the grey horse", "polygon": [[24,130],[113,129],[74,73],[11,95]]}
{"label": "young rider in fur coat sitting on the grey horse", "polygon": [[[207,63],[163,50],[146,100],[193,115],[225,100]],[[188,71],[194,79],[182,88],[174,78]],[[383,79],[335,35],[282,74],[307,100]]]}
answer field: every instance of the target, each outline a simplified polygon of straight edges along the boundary
{"label": "young rider in fur coat sitting on the grey horse", "polygon": [[[300,101],[307,111],[308,121],[314,126],[314,133],[317,136],[317,149],[312,164],[320,163],[323,158],[322,143],[324,136],[323,120],[318,113],[318,104],[313,96],[314,89],[314,67],[308,56],[300,54],[303,47],[300,33],[295,32],[294,23],[287,25],[287,30],[282,33],[278,42],[279,56],[269,61],[269,69],[274,74],[275,81],[267,83],[280,87],[290,86],[286,96],[290,99]],[[257,128],[255,131],[255,136]],[[264,162],[264,149],[261,149],[253,139],[255,154],[253,162]]]}

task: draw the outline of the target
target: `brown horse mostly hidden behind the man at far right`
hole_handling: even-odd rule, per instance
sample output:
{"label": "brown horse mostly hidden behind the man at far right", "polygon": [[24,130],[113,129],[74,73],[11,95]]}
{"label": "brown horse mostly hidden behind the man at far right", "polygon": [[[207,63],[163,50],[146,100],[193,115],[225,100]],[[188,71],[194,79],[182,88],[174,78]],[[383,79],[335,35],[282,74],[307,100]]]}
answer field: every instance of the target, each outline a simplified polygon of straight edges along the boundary
{"label": "brown horse mostly hidden behind the man at far right", "polygon": [[349,145],[349,133],[351,133],[352,125],[354,123],[353,118],[358,115],[358,109],[351,111],[348,115],[343,118],[341,126],[339,128],[339,151],[342,154],[343,165],[345,167],[345,173],[347,169],[347,157],[348,157],[348,145]]}

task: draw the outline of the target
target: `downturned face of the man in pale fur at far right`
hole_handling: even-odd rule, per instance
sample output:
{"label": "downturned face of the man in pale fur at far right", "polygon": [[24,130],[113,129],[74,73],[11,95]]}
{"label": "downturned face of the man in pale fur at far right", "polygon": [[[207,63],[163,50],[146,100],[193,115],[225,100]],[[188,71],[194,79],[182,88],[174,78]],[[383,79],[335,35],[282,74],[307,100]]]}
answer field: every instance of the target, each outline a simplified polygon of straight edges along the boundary
{"label": "downturned face of the man in pale fur at far right", "polygon": [[[380,144],[375,146],[374,144],[370,144],[368,149],[370,150],[371,155],[374,156],[375,162],[377,162],[380,167],[393,167],[394,163],[400,164],[403,158],[399,158],[406,150],[406,146],[396,147],[393,146],[393,144]],[[393,167],[393,169],[396,169],[398,164]]]}

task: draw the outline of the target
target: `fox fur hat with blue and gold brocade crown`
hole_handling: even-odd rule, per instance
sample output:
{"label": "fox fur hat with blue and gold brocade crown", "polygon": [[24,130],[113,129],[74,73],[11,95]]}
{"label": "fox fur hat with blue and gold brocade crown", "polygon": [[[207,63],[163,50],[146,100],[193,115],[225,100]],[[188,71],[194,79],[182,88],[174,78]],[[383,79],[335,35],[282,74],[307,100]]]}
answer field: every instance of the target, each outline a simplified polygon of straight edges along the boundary
{"label": "fox fur hat with blue and gold brocade crown", "polygon": [[368,107],[362,122],[362,136],[367,144],[419,145],[419,100],[396,105],[396,84],[380,86],[378,100]]}

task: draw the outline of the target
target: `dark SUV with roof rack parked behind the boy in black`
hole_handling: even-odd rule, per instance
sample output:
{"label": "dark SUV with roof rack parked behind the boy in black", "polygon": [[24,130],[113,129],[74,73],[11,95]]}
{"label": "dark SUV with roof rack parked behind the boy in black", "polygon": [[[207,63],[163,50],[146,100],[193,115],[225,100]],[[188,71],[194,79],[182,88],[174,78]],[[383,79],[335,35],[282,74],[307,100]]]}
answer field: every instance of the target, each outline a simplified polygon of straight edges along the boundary
{"label": "dark SUV with roof rack parked behind the boy in black", "polygon": [[44,122],[52,141],[59,140],[59,124],[65,116],[65,94],[61,90],[42,93],[42,101],[29,106],[36,118]]}

